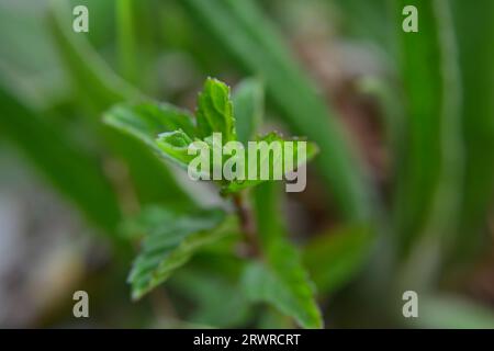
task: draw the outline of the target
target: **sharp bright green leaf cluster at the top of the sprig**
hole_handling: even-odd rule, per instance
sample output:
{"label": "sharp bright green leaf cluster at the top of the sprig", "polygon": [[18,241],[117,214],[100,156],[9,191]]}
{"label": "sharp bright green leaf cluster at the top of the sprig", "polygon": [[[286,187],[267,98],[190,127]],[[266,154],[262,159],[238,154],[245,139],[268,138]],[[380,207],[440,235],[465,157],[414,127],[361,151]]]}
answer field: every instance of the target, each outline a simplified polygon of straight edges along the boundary
{"label": "sharp bright green leaf cluster at the top of the sprig", "polygon": [[[104,121],[110,126],[137,138],[165,160],[188,169],[189,163],[195,158],[195,155],[189,155],[189,147],[193,141],[204,141],[210,154],[213,154],[214,148],[218,147],[221,143],[236,141],[237,137],[233,102],[229,98],[229,88],[225,83],[209,78],[204,84],[204,90],[199,94],[198,104],[197,127],[189,113],[180,112],[180,110],[167,104],[157,105],[156,103],[115,105],[105,113]],[[243,106],[249,109],[249,104]],[[245,112],[243,117],[246,117]],[[221,143],[214,139],[217,136],[213,133],[222,135]],[[299,144],[294,143],[293,157],[296,158],[296,161],[287,163],[284,139],[281,136],[270,133],[265,137],[257,138],[257,141],[265,143],[267,146],[270,146],[273,141],[279,141],[282,145],[281,152],[261,154],[259,149],[256,149],[258,180],[234,179],[222,186],[223,194],[237,193],[267,180],[272,180],[274,169],[280,166],[283,173],[289,173],[305,165],[317,152],[317,147],[313,143],[307,143],[305,157],[301,157],[297,152]],[[254,157],[254,155],[249,155],[246,147],[244,147],[244,159],[247,163],[248,157]],[[235,157],[236,155],[232,158]],[[216,167],[223,168],[226,161],[227,158],[222,157],[221,163],[215,165],[214,156],[211,155],[210,174],[204,176],[212,179],[213,169]],[[260,169],[265,167],[269,170],[269,178],[260,179]],[[198,174],[201,172],[201,170],[193,169],[192,171],[197,171]]]}

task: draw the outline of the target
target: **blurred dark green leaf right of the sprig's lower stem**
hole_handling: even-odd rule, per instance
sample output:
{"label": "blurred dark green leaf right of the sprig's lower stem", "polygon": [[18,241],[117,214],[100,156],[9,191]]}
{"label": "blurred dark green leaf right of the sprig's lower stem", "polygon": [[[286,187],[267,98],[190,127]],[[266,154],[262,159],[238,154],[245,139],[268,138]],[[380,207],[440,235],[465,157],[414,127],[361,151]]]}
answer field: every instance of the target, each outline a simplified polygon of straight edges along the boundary
{"label": "blurred dark green leaf right of the sprig's lower stem", "polygon": [[321,294],[333,293],[364,265],[373,244],[367,226],[343,227],[316,236],[303,250],[303,262]]}

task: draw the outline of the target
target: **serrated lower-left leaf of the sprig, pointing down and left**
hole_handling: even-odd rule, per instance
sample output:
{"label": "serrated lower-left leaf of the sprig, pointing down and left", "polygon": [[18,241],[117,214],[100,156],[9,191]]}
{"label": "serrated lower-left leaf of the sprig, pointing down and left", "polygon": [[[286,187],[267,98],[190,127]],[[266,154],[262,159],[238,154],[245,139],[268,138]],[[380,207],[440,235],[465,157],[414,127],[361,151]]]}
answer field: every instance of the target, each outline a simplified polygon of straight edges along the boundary
{"label": "serrated lower-left leaf of the sprig, pointing down and left", "polygon": [[[134,299],[165,282],[202,247],[235,233],[235,218],[218,210],[192,214],[170,213],[165,208],[151,211],[153,216],[144,211],[131,225],[141,228],[145,235],[142,251],[128,276]],[[158,216],[157,211],[161,213]]]}

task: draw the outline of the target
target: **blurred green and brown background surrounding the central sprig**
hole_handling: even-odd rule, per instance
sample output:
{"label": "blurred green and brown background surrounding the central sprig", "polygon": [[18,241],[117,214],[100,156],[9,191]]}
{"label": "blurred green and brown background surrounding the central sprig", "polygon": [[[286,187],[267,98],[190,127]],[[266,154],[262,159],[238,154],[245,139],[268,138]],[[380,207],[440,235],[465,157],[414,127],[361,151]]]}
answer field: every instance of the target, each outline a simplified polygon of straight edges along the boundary
{"label": "blurred green and brown background surrounding the central sprig", "polygon": [[187,186],[102,113],[193,110],[209,76],[261,79],[263,128],[321,148],[283,213],[326,327],[494,328],[492,0],[0,0],[0,327],[293,327],[211,252],[130,298],[122,219]]}

